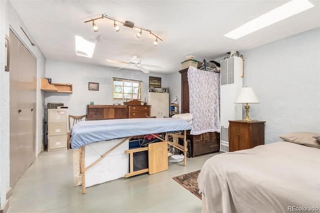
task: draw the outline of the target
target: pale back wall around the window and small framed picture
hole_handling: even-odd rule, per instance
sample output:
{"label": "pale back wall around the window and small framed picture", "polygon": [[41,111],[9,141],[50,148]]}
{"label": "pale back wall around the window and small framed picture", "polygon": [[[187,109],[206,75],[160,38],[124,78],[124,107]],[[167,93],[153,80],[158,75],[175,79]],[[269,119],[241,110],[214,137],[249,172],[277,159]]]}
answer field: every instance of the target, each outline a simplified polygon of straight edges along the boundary
{"label": "pale back wall around the window and small framed picture", "polygon": [[[142,80],[142,100],[146,97],[149,87],[149,76],[161,77],[161,86],[167,87],[167,75],[141,71],[82,64],[74,62],[46,60],[45,77],[52,83],[70,83],[73,93],[45,93],[45,104],[60,102],[68,106],[68,114],[86,114],[86,105],[93,101],[95,105],[112,105],[123,101],[112,100],[112,77],[123,77]],[[88,82],[99,83],[99,91],[88,90]],[[169,88],[170,91],[170,88]]]}

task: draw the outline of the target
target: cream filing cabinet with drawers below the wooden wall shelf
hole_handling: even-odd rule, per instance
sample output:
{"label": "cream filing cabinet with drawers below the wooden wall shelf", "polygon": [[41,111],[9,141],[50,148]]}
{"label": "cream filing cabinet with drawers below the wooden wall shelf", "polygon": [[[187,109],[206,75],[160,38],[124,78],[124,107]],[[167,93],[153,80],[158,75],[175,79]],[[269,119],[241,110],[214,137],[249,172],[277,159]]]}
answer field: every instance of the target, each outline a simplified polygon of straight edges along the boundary
{"label": "cream filing cabinet with drawers below the wooden wall shelf", "polygon": [[48,109],[48,152],[67,149],[67,109]]}

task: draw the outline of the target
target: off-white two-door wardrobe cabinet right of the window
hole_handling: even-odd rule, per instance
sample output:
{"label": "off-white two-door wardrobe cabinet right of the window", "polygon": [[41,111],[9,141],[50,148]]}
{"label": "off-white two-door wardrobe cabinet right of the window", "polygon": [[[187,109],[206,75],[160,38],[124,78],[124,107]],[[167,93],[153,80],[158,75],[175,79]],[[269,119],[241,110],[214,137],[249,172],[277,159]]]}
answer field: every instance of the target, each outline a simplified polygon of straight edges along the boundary
{"label": "off-white two-door wardrobe cabinet right of the window", "polygon": [[169,93],[148,92],[147,104],[151,105],[150,116],[169,117]]}

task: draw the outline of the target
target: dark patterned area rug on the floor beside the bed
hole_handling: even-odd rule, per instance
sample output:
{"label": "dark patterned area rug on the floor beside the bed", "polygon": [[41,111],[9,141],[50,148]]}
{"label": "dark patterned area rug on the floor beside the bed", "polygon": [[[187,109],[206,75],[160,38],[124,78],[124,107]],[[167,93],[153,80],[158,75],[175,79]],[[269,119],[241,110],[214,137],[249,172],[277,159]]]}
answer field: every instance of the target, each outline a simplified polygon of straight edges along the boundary
{"label": "dark patterned area rug on the floor beside the bed", "polygon": [[200,170],[191,172],[188,174],[173,177],[172,179],[178,182],[182,187],[187,189],[193,195],[201,200],[201,195],[199,194],[197,177],[199,176]]}

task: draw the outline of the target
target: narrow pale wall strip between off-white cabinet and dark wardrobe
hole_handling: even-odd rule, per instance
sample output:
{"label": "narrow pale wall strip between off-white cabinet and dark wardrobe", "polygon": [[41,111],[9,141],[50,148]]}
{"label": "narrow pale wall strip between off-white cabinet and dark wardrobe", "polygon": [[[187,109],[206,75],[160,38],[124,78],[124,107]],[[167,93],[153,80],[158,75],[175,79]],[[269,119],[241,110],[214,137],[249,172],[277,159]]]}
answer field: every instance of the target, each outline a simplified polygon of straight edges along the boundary
{"label": "narrow pale wall strip between off-white cabinet and dark wardrobe", "polygon": [[176,71],[174,73],[168,74],[167,78],[170,102],[176,96],[178,98],[179,113],[181,113],[181,74]]}

